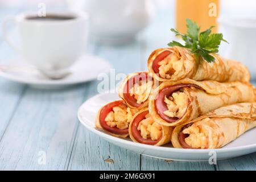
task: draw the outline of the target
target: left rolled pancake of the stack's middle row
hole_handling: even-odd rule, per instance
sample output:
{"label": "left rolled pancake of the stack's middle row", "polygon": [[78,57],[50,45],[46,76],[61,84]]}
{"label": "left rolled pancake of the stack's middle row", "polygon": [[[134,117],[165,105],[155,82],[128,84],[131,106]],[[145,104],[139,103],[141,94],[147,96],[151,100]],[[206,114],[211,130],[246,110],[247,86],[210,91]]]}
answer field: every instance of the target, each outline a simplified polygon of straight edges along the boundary
{"label": "left rolled pancake of the stack's middle row", "polygon": [[129,74],[121,83],[118,95],[131,108],[142,109],[148,106],[148,97],[152,89],[159,86],[159,81],[148,72]]}

